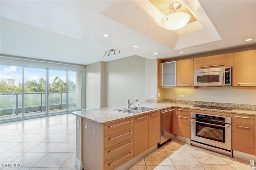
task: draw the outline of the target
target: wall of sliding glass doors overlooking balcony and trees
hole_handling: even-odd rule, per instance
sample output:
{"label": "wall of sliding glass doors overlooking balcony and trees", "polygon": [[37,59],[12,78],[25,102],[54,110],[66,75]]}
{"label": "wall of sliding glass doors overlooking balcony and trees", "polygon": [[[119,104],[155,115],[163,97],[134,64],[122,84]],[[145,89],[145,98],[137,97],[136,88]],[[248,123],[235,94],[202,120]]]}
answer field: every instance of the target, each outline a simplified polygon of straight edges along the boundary
{"label": "wall of sliding glass doors overlooking balcony and trees", "polygon": [[0,122],[82,109],[82,71],[0,65]]}

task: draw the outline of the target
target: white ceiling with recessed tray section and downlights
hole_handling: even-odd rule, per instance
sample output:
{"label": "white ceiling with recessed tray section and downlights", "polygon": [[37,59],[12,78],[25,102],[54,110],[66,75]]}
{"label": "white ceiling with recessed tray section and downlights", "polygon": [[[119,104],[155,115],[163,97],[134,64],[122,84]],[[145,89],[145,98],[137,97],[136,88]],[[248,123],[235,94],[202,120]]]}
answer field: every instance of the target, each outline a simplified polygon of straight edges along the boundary
{"label": "white ceiling with recessed tray section and downlights", "polygon": [[[256,45],[256,0],[183,2],[198,22],[170,31],[160,26],[164,14],[147,0],[1,0],[1,54],[86,65],[132,55],[170,59]],[[248,38],[253,40],[245,42]],[[121,55],[103,58],[110,49]]]}

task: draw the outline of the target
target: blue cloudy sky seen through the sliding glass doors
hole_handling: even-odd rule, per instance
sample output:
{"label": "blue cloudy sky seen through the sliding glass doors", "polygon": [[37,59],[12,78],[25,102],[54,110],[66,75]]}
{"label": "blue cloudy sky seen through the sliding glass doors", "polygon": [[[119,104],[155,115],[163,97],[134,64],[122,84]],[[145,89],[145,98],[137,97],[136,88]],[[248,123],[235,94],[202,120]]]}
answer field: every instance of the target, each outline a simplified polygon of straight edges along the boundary
{"label": "blue cloudy sky seen through the sliding glass doors", "polygon": [[[66,71],[49,69],[49,82],[54,81],[55,76],[66,82]],[[46,79],[46,69],[24,67],[24,80],[32,81],[43,77]],[[76,73],[69,71],[69,79],[76,82]],[[15,79],[15,85],[22,83],[22,67],[0,65],[0,79]]]}

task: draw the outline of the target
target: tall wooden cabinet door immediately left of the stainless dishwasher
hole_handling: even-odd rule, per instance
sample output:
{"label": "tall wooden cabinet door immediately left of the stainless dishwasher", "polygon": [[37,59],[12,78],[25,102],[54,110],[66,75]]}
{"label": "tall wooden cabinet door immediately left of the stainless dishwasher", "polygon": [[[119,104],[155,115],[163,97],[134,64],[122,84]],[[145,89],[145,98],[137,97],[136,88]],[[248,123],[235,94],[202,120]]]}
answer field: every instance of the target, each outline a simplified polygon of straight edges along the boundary
{"label": "tall wooden cabinet door immediately left of the stainless dishwasher", "polygon": [[148,114],[148,148],[160,142],[160,112]]}

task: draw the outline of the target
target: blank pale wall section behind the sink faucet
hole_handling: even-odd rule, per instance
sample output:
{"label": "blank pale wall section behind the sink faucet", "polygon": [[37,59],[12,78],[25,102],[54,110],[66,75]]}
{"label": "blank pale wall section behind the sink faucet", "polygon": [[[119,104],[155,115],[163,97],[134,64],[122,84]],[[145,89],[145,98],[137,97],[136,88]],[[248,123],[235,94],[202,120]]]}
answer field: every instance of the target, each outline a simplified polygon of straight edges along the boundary
{"label": "blank pale wall section behind the sink faucet", "polygon": [[106,62],[106,106],[145,102],[145,58],[131,56]]}

